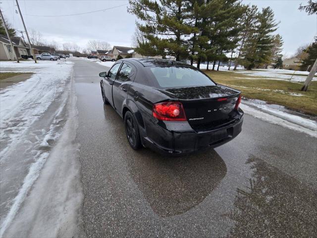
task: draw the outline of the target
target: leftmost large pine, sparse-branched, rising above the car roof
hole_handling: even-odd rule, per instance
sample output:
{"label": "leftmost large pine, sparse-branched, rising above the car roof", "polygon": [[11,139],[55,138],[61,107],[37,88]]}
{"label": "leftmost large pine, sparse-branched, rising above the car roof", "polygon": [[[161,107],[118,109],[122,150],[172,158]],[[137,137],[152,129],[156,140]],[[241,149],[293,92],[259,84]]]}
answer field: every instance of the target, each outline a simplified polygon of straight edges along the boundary
{"label": "leftmost large pine, sparse-branched, rising above the car roof", "polygon": [[188,1],[129,0],[128,11],[144,22],[137,23],[137,27],[146,41],[139,42],[136,52],[144,56],[171,55],[176,60],[188,57],[187,38],[196,31]]}

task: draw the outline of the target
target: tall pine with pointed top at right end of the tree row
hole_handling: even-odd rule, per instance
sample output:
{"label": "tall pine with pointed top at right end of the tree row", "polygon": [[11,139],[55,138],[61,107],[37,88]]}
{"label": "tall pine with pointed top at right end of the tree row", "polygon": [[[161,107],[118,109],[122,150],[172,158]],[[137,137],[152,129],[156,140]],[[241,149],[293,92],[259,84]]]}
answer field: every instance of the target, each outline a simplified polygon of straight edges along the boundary
{"label": "tall pine with pointed top at right end of the tree row", "polygon": [[247,39],[243,47],[243,65],[252,69],[270,62],[273,36],[278,23],[274,20],[274,13],[270,7],[265,7],[258,14],[258,23],[255,32]]}

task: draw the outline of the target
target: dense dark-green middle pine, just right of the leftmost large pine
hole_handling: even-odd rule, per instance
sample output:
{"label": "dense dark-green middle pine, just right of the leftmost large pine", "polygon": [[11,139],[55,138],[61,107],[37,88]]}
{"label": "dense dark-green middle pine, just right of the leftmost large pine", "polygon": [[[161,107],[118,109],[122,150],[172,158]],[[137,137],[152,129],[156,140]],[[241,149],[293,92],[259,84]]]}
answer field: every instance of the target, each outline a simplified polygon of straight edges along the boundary
{"label": "dense dark-green middle pine, just right of the leftmost large pine", "polygon": [[[200,4],[197,28],[197,67],[207,60],[227,60],[226,53],[235,48],[239,33],[238,19],[245,11],[237,0],[207,0]],[[209,66],[209,64],[208,64]]]}

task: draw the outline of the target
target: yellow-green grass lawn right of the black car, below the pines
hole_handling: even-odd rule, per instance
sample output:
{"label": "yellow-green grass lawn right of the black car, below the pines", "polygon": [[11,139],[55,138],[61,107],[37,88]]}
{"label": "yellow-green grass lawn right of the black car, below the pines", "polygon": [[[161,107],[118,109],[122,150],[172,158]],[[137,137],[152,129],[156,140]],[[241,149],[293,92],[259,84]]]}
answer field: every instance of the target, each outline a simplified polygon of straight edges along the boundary
{"label": "yellow-green grass lawn right of the black car, below the pines", "polygon": [[[311,82],[307,92],[302,92],[300,90],[303,83],[266,79],[265,77],[251,76],[242,73],[237,74],[232,71],[205,72],[210,75],[215,82],[242,91],[242,96],[246,98],[260,99],[271,104],[285,106],[295,111],[317,115],[316,81]],[[243,79],[243,77],[249,79]]]}

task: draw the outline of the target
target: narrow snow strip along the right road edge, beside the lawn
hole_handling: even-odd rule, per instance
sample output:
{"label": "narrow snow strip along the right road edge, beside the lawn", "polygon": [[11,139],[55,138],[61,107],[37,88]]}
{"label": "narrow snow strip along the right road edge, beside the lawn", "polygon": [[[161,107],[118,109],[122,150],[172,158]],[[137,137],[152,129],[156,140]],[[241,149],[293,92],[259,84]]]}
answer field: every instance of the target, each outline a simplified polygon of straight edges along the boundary
{"label": "narrow snow strip along the right road edge, beside the lawn", "polygon": [[[317,137],[317,121],[315,120],[292,115],[281,109],[274,109],[260,100],[253,100],[253,102],[243,100],[240,107],[246,114],[255,118]],[[283,107],[280,106],[280,108]]]}

